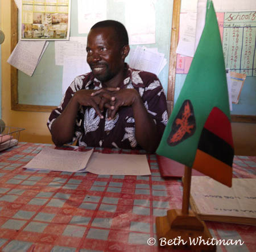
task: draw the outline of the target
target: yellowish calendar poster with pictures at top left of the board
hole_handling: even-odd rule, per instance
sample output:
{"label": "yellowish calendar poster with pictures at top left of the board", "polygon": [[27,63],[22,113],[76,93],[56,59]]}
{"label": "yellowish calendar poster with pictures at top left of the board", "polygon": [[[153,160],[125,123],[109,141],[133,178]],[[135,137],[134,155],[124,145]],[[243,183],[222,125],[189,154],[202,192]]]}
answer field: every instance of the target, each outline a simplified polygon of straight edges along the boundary
{"label": "yellowish calendar poster with pictures at top left of the board", "polygon": [[71,0],[22,0],[21,40],[68,40]]}

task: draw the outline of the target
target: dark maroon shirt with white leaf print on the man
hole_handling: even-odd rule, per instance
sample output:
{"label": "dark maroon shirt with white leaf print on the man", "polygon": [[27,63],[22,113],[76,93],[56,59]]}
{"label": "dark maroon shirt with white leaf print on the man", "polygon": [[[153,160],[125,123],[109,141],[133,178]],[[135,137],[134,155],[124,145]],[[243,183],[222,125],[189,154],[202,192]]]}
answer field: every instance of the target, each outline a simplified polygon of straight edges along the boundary
{"label": "dark maroon shirt with white leaf print on the man", "polygon": [[[138,71],[129,68],[126,64],[127,74],[120,88],[136,89],[142,97],[144,106],[163,134],[168,121],[166,96],[159,79],[153,73]],[[80,89],[100,89],[102,84],[93,73],[77,76],[64,94],[60,105],[52,111],[47,126],[51,130],[53,121],[63,112],[72,96]],[[123,106],[117,114],[108,120],[107,111],[104,118],[100,118],[92,107],[80,106],[77,113],[73,141],[77,140],[79,146],[108,147],[108,148],[136,148],[141,146],[135,138],[135,121],[131,106]]]}

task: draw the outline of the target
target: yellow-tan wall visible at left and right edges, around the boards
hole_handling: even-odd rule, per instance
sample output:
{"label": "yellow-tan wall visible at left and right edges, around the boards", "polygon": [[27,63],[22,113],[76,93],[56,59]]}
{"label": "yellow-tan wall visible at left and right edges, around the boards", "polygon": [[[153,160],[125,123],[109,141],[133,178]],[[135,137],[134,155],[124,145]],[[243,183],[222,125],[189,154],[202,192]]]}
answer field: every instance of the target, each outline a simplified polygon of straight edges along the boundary
{"label": "yellow-tan wall visible at left and right edges, around the boards", "polygon": [[[2,44],[2,119],[7,126],[26,128],[20,135],[20,141],[52,143],[46,126],[49,113],[11,110],[10,65],[6,63],[11,53],[10,0],[1,0],[0,5],[1,29],[5,33]],[[232,131],[235,153],[256,156],[256,124],[232,123]]]}

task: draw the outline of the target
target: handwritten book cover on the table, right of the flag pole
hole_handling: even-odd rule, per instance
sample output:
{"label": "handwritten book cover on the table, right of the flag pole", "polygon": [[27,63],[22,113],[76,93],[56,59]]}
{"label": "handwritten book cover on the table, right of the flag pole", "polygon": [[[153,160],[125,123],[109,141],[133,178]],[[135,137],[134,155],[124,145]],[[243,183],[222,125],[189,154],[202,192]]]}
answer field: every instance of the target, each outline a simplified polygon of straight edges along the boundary
{"label": "handwritten book cover on the table, right of the flag pole", "polygon": [[256,179],[232,179],[226,187],[210,177],[192,176],[191,207],[202,220],[256,225]]}

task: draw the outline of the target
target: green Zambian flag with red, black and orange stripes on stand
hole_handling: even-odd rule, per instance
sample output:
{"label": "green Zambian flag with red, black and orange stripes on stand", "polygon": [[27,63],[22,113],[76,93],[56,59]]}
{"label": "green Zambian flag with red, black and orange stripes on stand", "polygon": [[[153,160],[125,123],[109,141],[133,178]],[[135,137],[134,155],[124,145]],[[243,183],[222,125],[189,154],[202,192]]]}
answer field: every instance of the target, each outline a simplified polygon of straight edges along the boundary
{"label": "green Zambian flag with red, black and orange stripes on stand", "polygon": [[208,1],[200,42],[156,153],[232,185],[228,86],[212,1]]}

